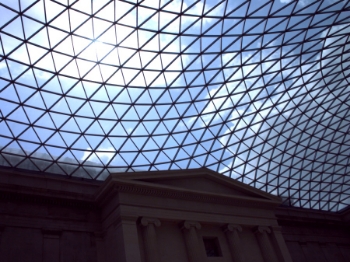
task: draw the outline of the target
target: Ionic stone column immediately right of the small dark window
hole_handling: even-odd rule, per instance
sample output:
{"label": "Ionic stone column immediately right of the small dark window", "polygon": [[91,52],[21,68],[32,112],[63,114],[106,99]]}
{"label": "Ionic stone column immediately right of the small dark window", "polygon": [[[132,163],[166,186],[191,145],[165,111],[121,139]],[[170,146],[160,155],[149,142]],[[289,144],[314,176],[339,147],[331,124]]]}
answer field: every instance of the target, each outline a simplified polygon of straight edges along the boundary
{"label": "Ionic stone column immediately right of the small dark window", "polygon": [[228,224],[223,228],[227,242],[230,247],[231,256],[234,262],[243,262],[244,257],[241,248],[241,240],[239,232],[242,232],[242,227],[239,225]]}

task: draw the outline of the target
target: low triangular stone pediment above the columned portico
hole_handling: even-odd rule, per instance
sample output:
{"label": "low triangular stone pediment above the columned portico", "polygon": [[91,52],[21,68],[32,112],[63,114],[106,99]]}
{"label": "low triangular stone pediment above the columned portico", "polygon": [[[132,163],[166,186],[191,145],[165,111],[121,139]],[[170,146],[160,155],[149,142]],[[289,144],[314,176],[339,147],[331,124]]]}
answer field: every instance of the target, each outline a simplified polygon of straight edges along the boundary
{"label": "low triangular stone pediment above the columned portico", "polygon": [[279,198],[206,168],[113,174],[115,181],[188,192],[279,201]]}

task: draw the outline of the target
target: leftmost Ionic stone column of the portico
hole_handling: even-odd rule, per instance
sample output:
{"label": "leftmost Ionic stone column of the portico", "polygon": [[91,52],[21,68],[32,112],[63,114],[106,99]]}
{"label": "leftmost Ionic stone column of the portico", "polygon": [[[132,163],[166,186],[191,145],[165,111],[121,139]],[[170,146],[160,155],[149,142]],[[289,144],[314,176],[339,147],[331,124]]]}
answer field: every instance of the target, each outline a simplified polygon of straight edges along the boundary
{"label": "leftmost Ionic stone column of the portico", "polygon": [[156,227],[160,226],[157,218],[143,217],[141,219],[143,229],[143,241],[145,244],[146,261],[159,262]]}

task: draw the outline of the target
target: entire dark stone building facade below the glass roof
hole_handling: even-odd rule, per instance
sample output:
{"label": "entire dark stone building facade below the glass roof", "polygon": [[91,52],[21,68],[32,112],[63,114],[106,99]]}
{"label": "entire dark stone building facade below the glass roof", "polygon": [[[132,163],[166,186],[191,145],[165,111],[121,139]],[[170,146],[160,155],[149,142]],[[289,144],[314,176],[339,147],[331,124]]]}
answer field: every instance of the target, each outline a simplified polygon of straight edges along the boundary
{"label": "entire dark stone building facade below the glass roof", "polygon": [[349,211],[275,210],[274,196],[181,172],[102,183],[0,169],[0,261],[350,261]]}

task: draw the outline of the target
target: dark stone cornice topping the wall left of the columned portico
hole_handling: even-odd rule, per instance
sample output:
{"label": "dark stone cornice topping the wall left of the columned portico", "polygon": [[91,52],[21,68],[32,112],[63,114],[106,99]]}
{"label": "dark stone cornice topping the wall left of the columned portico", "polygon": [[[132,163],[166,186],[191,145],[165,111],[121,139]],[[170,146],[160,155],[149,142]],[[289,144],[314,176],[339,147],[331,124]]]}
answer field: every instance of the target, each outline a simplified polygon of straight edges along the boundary
{"label": "dark stone cornice topping the wall left of the columned portico", "polygon": [[17,169],[0,168],[0,200],[96,208],[94,193],[101,182]]}

